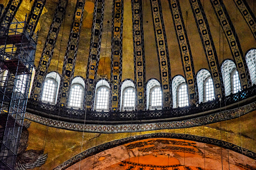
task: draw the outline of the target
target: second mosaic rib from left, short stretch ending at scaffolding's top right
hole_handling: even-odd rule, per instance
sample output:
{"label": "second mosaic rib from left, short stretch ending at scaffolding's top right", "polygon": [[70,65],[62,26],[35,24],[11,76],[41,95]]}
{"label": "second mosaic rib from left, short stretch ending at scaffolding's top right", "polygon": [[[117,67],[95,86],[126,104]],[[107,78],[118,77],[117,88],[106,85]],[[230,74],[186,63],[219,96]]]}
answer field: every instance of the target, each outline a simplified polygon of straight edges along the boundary
{"label": "second mosaic rib from left, short stretch ending at scaffolding's top right", "polygon": [[46,3],[46,0],[36,0],[34,2],[27,20],[28,33],[30,33],[30,31],[35,32],[37,23],[39,22],[45,3]]}

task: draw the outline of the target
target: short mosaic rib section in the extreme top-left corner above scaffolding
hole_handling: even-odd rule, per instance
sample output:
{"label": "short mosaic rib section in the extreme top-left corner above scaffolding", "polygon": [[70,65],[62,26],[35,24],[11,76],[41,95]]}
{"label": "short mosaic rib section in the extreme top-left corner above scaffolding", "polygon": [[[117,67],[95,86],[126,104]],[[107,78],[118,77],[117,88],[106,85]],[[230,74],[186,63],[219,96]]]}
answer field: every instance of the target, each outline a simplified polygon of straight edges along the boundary
{"label": "short mosaic rib section in the extreme top-left corner above scaffolding", "polygon": [[9,29],[10,24],[13,22],[13,19],[21,5],[22,0],[9,0],[6,9],[1,17],[0,24],[0,33],[6,32],[6,29]]}

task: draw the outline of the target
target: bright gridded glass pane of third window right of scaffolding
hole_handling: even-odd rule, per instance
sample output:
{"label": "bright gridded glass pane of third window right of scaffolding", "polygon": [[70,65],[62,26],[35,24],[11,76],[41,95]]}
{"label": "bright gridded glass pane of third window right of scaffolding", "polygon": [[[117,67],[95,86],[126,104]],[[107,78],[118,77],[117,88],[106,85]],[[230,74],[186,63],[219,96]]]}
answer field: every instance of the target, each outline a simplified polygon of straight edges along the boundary
{"label": "bright gridded glass pane of third window right of scaffolding", "polygon": [[107,109],[108,107],[108,89],[101,87],[97,93],[96,109]]}

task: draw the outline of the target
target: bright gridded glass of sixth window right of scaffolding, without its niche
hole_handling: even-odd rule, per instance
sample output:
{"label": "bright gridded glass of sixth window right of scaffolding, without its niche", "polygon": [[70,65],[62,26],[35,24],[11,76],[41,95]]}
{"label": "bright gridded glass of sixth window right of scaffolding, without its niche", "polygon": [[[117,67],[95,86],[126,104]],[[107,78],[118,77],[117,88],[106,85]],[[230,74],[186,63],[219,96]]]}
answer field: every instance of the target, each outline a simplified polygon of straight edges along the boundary
{"label": "bright gridded glass of sixth window right of scaffolding, without its niche", "polygon": [[177,92],[178,92],[178,96],[177,96],[178,106],[179,107],[188,106],[186,84],[185,83],[180,84]]}

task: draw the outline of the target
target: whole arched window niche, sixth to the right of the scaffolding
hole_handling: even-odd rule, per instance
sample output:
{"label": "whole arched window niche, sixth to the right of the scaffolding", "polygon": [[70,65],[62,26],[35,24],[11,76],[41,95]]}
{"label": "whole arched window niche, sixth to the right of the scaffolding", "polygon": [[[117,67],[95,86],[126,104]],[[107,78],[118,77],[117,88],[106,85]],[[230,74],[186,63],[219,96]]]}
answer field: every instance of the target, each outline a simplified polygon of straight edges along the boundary
{"label": "whole arched window niche, sixth to the right of the scaffolding", "polygon": [[173,108],[188,105],[187,86],[183,76],[175,76],[172,80]]}

